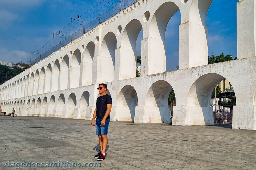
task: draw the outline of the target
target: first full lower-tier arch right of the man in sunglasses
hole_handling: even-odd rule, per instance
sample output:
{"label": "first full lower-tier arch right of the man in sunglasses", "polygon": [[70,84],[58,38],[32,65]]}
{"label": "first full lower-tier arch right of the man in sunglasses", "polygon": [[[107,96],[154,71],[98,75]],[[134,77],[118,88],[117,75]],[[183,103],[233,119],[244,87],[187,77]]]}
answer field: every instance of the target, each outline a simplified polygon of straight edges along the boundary
{"label": "first full lower-tier arch right of the man in sunglasses", "polygon": [[134,122],[135,107],[138,106],[138,97],[133,86],[126,85],[121,89],[116,106],[118,107],[117,109],[121,107],[122,117],[115,115],[115,120]]}

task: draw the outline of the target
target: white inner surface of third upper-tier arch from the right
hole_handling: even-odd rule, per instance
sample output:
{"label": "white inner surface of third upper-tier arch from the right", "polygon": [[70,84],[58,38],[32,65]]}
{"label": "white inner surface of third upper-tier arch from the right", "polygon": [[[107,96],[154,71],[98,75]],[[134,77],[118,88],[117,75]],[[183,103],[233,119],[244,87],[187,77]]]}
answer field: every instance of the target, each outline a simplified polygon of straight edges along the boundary
{"label": "white inner surface of third upper-tier arch from the right", "polygon": [[124,49],[124,53],[120,57],[120,68],[122,68],[120,70],[120,80],[136,77],[136,41],[141,30],[142,24],[134,19],[126,25],[123,31],[121,47]]}

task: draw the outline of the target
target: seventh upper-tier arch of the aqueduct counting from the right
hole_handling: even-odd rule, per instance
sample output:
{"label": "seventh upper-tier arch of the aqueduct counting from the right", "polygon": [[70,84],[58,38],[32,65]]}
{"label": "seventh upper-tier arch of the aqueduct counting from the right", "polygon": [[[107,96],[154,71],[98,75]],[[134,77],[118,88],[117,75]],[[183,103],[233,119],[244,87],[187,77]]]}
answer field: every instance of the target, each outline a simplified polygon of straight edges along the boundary
{"label": "seventh upper-tier arch of the aqueduct counting from the right", "polygon": [[68,89],[68,68],[69,68],[69,57],[68,55],[65,55],[61,62],[60,90]]}

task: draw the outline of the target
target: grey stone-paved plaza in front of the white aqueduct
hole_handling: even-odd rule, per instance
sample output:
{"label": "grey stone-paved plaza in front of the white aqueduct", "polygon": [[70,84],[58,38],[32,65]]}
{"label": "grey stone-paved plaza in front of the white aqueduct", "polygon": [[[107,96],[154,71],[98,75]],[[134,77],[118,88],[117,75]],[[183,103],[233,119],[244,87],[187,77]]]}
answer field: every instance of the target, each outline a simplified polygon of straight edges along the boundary
{"label": "grey stone-paved plaza in front of the white aqueduct", "polygon": [[4,167],[8,161],[101,162],[101,167],[19,169],[256,169],[253,130],[110,122],[106,159],[97,161],[98,136],[91,121],[2,114],[0,170],[16,169]]}

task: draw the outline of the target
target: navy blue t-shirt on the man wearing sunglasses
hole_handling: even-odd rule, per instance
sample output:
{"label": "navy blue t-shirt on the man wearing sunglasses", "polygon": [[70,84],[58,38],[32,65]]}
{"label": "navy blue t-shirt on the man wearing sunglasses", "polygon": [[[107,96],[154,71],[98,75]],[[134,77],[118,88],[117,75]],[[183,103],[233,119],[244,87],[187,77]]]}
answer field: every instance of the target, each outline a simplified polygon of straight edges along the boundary
{"label": "navy blue t-shirt on the man wearing sunglasses", "polygon": [[[106,94],[97,98],[96,101],[96,119],[103,119],[107,111],[107,104],[112,104],[112,98],[110,95]],[[108,116],[106,119],[109,119]]]}

